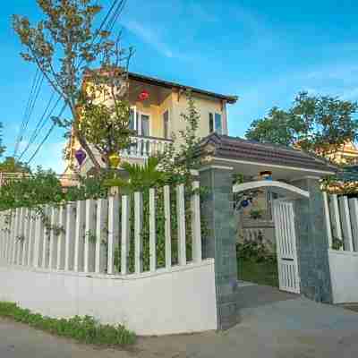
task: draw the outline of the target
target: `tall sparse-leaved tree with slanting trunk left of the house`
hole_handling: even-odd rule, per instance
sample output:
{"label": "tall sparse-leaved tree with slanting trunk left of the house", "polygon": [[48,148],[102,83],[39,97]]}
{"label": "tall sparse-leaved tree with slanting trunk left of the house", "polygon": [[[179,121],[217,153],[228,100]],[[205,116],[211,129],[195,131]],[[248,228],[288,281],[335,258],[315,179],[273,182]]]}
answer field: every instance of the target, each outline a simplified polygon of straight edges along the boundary
{"label": "tall sparse-leaved tree with slanting trunk left of the house", "polygon": [[[13,28],[25,47],[21,55],[38,66],[50,86],[64,99],[71,118],[57,117],[55,124],[66,128],[68,134],[72,132],[99,170],[98,159],[80,130],[79,108],[88,100],[82,81],[86,77],[87,83],[96,87],[92,93],[103,94],[106,100],[106,81],[116,81],[116,96],[124,96],[132,48],[121,47],[120,36],[112,38],[106,26],[105,30],[103,26],[95,28],[95,20],[102,10],[95,0],[37,0],[37,3],[45,20],[32,25],[26,16],[13,16]],[[120,0],[117,9],[123,4],[124,0]],[[100,71],[89,71],[95,64]],[[119,66],[122,71],[113,71]]]}

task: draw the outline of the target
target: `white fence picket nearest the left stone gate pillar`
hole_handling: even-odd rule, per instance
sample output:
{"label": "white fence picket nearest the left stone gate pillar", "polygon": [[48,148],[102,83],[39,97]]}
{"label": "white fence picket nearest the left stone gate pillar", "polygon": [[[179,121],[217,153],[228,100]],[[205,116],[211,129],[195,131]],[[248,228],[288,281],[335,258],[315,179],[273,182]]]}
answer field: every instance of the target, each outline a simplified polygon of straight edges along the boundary
{"label": "white fence picket nearest the left stone gate pillar", "polygon": [[200,262],[201,255],[201,223],[200,223],[200,183],[194,181],[192,183],[192,260]]}

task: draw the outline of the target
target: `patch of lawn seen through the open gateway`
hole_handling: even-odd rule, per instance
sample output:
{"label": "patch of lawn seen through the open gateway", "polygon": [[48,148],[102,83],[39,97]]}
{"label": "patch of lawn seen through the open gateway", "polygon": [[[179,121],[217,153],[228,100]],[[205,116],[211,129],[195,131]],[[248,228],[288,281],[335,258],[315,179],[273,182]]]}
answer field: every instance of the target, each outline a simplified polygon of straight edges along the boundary
{"label": "patch of lawn seen through the open gateway", "polygon": [[239,258],[237,260],[237,274],[240,280],[254,282],[259,285],[278,287],[277,262]]}

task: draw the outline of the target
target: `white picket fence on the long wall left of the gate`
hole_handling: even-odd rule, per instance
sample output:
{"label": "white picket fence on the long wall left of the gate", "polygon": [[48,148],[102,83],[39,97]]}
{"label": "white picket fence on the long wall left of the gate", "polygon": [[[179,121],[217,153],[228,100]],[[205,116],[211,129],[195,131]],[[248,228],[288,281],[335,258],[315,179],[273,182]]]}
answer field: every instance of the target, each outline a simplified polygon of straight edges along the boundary
{"label": "white picket fence on the long wall left of the gate", "polygon": [[[193,189],[199,182],[193,182]],[[186,255],[184,185],[175,188],[178,265],[189,262]],[[134,274],[143,273],[143,220],[149,220],[149,271],[172,267],[172,226],[170,187],[164,187],[166,267],[157,265],[156,190],[149,189],[149,217],[143,217],[142,193],[135,192],[134,230],[131,232],[131,197],[109,196],[107,199],[69,202],[64,206],[37,211],[18,208],[0,212],[0,263],[47,270],[131,275],[129,253],[134,241]],[[192,261],[201,259],[200,196],[193,191]],[[48,217],[48,220],[44,220]],[[48,221],[48,222],[47,222]],[[105,243],[105,244],[104,244]],[[115,268],[115,250],[119,249],[121,269]]]}

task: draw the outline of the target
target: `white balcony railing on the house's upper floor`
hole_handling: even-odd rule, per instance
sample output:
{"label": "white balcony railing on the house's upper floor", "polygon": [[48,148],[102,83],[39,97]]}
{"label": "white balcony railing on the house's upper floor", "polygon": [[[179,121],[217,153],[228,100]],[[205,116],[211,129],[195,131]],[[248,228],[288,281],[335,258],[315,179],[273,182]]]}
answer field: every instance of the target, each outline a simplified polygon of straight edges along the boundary
{"label": "white balcony railing on the house's upper floor", "polygon": [[173,142],[163,138],[155,137],[132,137],[132,145],[129,149],[124,149],[121,156],[124,158],[148,158],[156,153],[163,153]]}

